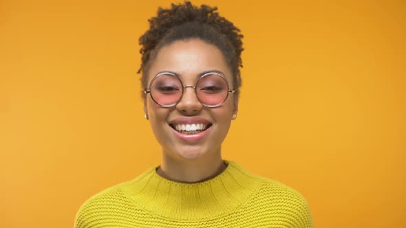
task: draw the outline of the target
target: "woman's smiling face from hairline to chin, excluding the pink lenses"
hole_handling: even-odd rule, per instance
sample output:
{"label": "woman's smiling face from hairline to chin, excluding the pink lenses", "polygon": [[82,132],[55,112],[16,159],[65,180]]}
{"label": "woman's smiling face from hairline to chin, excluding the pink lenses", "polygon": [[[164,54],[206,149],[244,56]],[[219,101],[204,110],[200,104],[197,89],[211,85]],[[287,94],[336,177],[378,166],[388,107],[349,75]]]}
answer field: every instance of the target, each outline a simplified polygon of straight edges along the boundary
{"label": "woman's smiling face from hairline to chin, excluding the pink lenses", "polygon": [[[175,41],[162,47],[149,67],[148,86],[154,76],[163,71],[176,73],[184,86],[195,86],[199,76],[206,71],[220,71],[230,89],[234,89],[231,69],[220,49],[200,39]],[[218,157],[237,107],[233,93],[228,93],[228,98],[220,106],[210,108],[197,100],[195,89],[186,88],[182,100],[169,108],[156,104],[147,94],[144,109],[163,155],[184,160]]]}

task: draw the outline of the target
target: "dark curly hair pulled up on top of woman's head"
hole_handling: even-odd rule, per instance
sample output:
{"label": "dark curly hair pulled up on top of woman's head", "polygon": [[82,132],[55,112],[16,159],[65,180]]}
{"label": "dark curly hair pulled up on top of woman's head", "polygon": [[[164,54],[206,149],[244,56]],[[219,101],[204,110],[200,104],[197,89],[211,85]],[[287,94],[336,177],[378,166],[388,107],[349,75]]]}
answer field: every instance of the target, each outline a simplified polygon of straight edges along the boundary
{"label": "dark curly hair pulled up on top of woman's head", "polygon": [[[217,7],[201,5],[198,8],[190,1],[183,4],[171,4],[171,8],[158,8],[158,16],[149,19],[149,30],[140,36],[139,43],[142,72],[142,88],[148,87],[148,68],[156,54],[164,45],[174,41],[182,41],[189,38],[200,38],[202,41],[215,45],[228,62],[233,72],[233,89],[239,96],[239,87],[242,80],[239,67],[242,67],[241,53],[243,35],[235,25],[215,12]],[[142,99],[145,93],[142,92]]]}

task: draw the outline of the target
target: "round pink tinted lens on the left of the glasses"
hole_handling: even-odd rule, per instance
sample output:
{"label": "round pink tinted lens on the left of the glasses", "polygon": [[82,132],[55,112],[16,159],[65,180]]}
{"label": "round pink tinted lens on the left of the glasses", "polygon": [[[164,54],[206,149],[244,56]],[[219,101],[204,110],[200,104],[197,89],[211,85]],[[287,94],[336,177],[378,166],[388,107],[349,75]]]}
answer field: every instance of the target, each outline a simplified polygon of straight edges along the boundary
{"label": "round pink tinted lens on the left of the glasses", "polygon": [[182,82],[170,74],[160,75],[152,82],[151,96],[158,104],[175,104],[182,96]]}

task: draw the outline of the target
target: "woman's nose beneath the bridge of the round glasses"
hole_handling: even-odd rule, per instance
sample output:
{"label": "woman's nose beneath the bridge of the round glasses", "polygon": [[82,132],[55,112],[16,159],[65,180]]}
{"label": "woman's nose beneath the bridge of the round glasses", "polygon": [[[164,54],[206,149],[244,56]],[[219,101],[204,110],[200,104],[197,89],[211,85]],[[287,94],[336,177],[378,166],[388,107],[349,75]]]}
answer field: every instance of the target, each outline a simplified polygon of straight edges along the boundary
{"label": "woman's nose beneath the bridge of the round glasses", "polygon": [[197,99],[195,89],[193,87],[184,88],[182,99],[176,104],[176,109],[184,115],[195,115],[202,108],[203,104]]}

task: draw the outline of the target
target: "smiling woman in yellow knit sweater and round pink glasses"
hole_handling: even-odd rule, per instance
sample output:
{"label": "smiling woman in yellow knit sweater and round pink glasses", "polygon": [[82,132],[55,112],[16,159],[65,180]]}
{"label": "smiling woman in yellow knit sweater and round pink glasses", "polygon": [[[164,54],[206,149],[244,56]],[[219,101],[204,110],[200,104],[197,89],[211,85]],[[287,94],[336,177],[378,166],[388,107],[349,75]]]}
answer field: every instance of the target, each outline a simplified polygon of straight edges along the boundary
{"label": "smiling woman in yellow knit sweater and round pink glasses", "polygon": [[150,20],[140,37],[142,98],[162,163],[89,198],[76,227],[313,227],[297,191],[222,159],[243,49],[215,10],[185,2]]}

